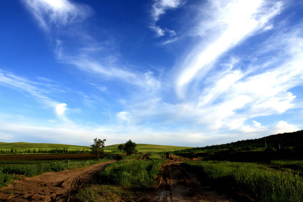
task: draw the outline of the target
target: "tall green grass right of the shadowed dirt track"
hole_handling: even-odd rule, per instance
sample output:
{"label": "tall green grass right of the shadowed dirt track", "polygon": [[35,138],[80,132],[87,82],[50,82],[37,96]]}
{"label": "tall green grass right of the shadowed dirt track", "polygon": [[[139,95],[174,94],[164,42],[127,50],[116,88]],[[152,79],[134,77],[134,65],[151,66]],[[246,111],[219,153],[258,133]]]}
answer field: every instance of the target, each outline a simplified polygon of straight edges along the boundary
{"label": "tall green grass right of the shadowed dirt track", "polygon": [[265,165],[238,162],[193,162],[185,165],[213,186],[249,194],[264,202],[303,201],[303,178]]}

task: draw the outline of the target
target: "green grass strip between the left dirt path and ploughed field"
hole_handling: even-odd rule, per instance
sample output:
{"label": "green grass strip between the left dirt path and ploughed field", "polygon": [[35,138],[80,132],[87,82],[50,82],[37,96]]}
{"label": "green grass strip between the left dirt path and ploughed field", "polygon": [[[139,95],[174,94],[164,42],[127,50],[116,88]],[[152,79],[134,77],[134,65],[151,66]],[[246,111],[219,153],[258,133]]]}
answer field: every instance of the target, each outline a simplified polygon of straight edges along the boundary
{"label": "green grass strip between the left dirt path and ploughed field", "polygon": [[40,163],[19,162],[21,164],[2,164],[0,166],[0,187],[6,186],[19,179],[21,176],[32,177],[46,172],[58,172],[65,169],[80,168],[90,166],[108,159],[99,160],[59,160],[59,161],[41,161]]}

